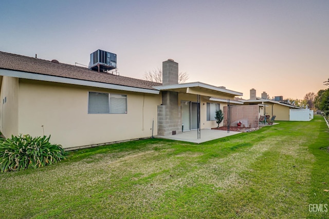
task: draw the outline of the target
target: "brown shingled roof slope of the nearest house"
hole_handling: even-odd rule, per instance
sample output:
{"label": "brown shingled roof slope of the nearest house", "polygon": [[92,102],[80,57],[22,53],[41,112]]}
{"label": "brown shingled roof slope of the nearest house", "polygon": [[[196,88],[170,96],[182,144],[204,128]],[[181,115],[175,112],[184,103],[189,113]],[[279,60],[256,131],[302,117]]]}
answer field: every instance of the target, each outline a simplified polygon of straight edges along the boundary
{"label": "brown shingled roof slope of the nearest house", "polygon": [[83,81],[121,85],[134,88],[156,90],[162,84],[111,73],[99,73],[79,66],[54,63],[40,58],[28,57],[0,51],[0,69],[50,75]]}

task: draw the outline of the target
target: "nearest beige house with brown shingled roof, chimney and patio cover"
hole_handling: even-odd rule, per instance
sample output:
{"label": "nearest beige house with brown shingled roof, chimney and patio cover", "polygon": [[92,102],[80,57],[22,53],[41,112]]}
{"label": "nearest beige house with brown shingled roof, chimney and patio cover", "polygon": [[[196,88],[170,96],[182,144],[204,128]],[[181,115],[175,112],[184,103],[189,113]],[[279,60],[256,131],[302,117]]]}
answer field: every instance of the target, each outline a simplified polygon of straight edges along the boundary
{"label": "nearest beige house with brown shingled roof, chimney and patio cover", "polygon": [[[163,84],[0,52],[0,129],[51,135],[66,149],[216,127],[215,110],[242,93],[178,84],[178,63],[163,62]],[[236,102],[236,103],[235,103]],[[198,123],[199,122],[199,123]],[[199,126],[197,125],[199,124]]]}

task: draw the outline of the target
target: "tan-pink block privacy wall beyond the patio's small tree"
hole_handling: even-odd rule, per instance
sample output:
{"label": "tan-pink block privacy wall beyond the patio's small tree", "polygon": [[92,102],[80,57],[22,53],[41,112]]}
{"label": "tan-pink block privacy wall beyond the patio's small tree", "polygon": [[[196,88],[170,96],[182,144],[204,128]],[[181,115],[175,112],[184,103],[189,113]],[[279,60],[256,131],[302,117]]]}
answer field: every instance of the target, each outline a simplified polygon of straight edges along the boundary
{"label": "tan-pink block privacy wall beyond the patio's small tree", "polygon": [[[227,126],[227,107],[224,107],[224,126]],[[237,127],[237,122],[241,121],[242,128],[259,128],[258,105],[244,105],[230,107],[230,126]]]}

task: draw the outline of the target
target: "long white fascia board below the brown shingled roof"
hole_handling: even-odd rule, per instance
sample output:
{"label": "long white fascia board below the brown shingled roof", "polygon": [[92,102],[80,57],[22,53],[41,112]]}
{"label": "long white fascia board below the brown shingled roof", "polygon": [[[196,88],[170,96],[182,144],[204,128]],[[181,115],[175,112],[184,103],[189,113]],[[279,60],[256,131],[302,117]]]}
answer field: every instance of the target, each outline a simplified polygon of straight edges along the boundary
{"label": "long white fascia board below the brown shingled roof", "polygon": [[151,93],[151,94],[160,93],[160,91],[158,91],[158,90],[149,90],[149,89],[145,89],[145,88],[135,88],[135,87],[106,84],[106,83],[100,83],[100,82],[90,82],[90,81],[84,81],[84,80],[79,80],[79,79],[58,77],[58,76],[45,75],[45,74],[36,74],[36,73],[30,73],[30,72],[24,72],[24,71],[12,71],[12,70],[0,69],[0,75],[18,77],[18,78],[24,78],[24,79],[32,79],[32,80],[38,80],[38,81],[45,81],[45,82],[57,82],[57,83],[64,83],[64,84],[71,84],[71,85],[82,85],[82,86],[88,86],[88,87],[107,88],[107,89],[113,89],[113,90],[132,91],[132,92],[139,92],[139,93]]}

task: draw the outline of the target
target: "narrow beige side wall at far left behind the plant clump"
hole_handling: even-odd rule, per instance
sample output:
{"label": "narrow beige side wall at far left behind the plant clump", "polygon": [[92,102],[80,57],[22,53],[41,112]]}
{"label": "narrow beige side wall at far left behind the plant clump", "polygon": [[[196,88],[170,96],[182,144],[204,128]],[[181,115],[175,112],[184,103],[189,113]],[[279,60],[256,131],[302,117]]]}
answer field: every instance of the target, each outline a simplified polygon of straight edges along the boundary
{"label": "narrow beige side wall at far left behind the plant clump", "polygon": [[[0,93],[0,127],[6,137],[19,134],[18,91],[19,79],[3,76]],[[4,103],[5,98],[6,103]]]}

